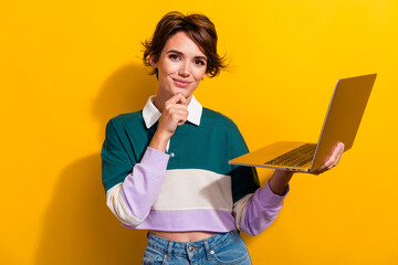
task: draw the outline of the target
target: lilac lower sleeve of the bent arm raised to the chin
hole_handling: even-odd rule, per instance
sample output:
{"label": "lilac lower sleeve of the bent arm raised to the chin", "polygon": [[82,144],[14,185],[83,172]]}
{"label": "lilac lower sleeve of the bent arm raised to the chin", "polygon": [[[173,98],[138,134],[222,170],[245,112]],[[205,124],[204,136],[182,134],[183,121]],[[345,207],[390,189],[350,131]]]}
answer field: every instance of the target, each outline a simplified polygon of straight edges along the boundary
{"label": "lilac lower sleeve of the bent arm raised to the chin", "polygon": [[150,147],[123,182],[122,198],[132,214],[145,219],[156,201],[165,180],[169,155]]}

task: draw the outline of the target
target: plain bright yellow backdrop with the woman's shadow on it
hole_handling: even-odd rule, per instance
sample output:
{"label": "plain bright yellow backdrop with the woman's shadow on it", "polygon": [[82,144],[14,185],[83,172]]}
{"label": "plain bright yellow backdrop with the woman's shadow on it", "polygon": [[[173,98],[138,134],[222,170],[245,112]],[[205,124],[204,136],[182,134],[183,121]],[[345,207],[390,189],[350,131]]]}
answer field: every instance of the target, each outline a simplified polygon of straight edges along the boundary
{"label": "plain bright yellow backdrop with the woman's shadow on it", "polygon": [[251,150],[316,141],[336,81],[378,73],[354,148],[296,174],[275,223],[244,240],[254,264],[398,264],[396,0],[2,0],[0,263],[139,264],[145,232],[107,210],[100,150],[106,121],[156,92],[140,41],[171,10],[216,23],[230,70],[195,95]]}

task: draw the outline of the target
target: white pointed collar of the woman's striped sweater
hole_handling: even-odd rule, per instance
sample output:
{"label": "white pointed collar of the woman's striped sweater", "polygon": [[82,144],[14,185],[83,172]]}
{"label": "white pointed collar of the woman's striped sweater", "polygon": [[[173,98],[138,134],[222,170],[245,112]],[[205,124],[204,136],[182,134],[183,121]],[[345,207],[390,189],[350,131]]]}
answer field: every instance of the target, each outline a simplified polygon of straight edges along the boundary
{"label": "white pointed collar of the woman's striped sweater", "polygon": [[[161,113],[159,112],[159,109],[157,109],[154,105],[155,97],[156,97],[156,95],[150,96],[143,109],[143,118],[144,118],[145,126],[147,127],[147,129],[153,127],[154,124],[156,124],[156,121],[158,121],[161,116]],[[191,124],[195,124],[196,126],[199,126],[202,109],[203,109],[203,107],[192,95],[192,97],[188,104],[188,113],[189,113],[188,121]]]}

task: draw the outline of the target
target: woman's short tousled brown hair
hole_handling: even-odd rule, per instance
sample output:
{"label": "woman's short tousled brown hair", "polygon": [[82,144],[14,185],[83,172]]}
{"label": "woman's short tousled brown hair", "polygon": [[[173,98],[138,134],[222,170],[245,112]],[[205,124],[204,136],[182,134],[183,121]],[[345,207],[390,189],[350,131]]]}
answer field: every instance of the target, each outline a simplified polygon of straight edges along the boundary
{"label": "woman's short tousled brown hair", "polygon": [[[224,57],[220,57],[217,53],[217,32],[214,24],[203,14],[192,13],[184,15],[176,11],[165,14],[156,25],[154,36],[143,42],[145,47],[143,56],[144,64],[150,66],[150,55],[159,59],[161,50],[168,39],[180,31],[187,33],[206,54],[206,73],[208,73],[209,77],[214,77],[222,68],[226,68]],[[156,74],[158,77],[158,70],[154,68],[150,74]]]}

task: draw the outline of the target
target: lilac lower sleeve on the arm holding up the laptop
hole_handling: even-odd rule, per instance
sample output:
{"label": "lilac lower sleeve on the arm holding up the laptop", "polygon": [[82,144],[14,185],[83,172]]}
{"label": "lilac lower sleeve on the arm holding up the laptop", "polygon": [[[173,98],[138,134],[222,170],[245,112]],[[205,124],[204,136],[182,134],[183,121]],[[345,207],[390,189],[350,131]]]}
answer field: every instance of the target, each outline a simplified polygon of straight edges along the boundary
{"label": "lilac lower sleeve on the arm holding up the laptop", "polygon": [[263,232],[276,219],[282,209],[283,200],[289,193],[290,187],[283,195],[274,194],[269,182],[258,189],[248,202],[243,219],[243,231],[250,235]]}

